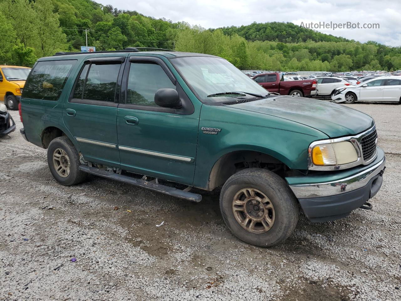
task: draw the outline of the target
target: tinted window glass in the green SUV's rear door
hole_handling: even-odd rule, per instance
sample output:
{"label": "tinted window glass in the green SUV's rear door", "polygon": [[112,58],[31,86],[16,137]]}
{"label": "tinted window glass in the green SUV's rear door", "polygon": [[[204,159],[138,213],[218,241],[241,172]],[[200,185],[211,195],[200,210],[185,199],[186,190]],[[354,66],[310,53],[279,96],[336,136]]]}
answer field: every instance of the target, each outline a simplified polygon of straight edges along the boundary
{"label": "tinted window glass in the green SUV's rear door", "polygon": [[79,75],[73,98],[114,102],[121,63],[86,64]]}

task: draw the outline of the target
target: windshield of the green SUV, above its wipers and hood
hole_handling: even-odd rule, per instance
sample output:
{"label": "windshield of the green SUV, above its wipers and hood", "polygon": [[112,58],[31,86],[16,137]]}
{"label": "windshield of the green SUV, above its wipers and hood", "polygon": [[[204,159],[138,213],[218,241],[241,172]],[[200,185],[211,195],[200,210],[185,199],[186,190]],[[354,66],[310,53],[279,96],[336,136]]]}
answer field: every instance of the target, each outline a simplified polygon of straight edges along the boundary
{"label": "windshield of the green SUV, above its wipers and hood", "polygon": [[[177,57],[172,61],[193,91],[206,103],[227,101],[227,98],[233,100],[239,97],[238,94],[227,94],[227,92],[251,93],[241,94],[241,98],[255,98],[252,94],[265,96],[269,93],[225,59]],[[212,95],[219,97],[208,97]]]}

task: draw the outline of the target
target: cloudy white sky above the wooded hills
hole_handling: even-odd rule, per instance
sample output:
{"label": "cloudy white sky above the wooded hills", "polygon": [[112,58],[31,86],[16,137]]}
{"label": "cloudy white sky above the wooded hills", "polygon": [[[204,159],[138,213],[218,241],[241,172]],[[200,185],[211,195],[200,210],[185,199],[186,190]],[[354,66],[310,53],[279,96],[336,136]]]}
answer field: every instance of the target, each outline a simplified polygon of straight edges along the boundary
{"label": "cloudy white sky above the wooded hills", "polygon": [[186,21],[205,28],[240,26],[256,22],[379,23],[377,29],[317,29],[322,33],[401,46],[401,1],[399,0],[97,0],[146,16]]}

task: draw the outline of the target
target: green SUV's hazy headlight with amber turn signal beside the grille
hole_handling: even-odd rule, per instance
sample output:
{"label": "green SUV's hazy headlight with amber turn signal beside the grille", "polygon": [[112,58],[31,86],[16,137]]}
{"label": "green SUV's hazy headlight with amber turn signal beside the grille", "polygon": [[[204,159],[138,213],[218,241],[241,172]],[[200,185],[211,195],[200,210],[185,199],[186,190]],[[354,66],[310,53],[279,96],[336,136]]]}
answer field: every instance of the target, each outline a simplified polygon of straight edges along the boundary
{"label": "green SUV's hazy headlight with amber turn signal beside the grille", "polygon": [[311,159],[314,165],[342,165],[358,160],[354,145],[349,141],[320,144],[312,148]]}

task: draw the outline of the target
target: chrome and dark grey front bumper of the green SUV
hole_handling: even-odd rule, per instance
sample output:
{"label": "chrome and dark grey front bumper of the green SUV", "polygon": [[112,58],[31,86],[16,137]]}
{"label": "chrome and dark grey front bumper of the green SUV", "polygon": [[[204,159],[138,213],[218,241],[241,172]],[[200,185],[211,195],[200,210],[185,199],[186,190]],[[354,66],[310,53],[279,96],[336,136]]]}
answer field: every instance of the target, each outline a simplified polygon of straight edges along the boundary
{"label": "chrome and dark grey front bumper of the green SUV", "polygon": [[383,183],[385,164],[384,152],[377,148],[375,161],[365,168],[352,169],[356,171],[352,175],[342,177],[349,171],[340,171],[336,173],[338,178],[333,179],[330,173],[326,173],[324,177],[330,181],[322,182],[316,182],[316,176],[310,176],[313,183],[294,184],[290,188],[312,222],[337,220],[348,216],[376,195]]}

